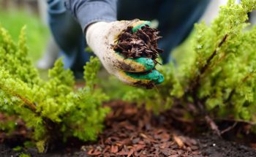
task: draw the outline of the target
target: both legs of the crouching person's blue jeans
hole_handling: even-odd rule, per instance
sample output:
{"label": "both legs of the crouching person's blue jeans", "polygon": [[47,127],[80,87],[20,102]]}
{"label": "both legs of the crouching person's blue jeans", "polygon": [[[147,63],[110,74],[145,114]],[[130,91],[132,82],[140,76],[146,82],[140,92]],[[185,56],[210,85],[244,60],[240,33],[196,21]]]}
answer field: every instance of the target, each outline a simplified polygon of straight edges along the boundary
{"label": "both legs of the crouching person's blue jeans", "polygon": [[[158,20],[158,29],[163,37],[159,47],[164,64],[170,61],[170,51],[183,42],[200,19],[209,0],[119,0],[118,20]],[[86,39],[81,26],[65,9],[63,0],[48,1],[49,24],[53,37],[63,51],[66,68],[83,72],[83,65],[89,61],[86,53]]]}

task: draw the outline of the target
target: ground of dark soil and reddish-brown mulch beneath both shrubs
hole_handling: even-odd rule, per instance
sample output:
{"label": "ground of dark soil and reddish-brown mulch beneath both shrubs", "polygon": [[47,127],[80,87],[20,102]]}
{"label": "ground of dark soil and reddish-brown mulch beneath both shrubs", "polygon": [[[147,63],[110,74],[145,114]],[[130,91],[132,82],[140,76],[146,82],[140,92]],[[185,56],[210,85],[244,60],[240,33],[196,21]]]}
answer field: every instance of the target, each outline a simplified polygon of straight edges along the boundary
{"label": "ground of dark soil and reddish-brown mulch beneath both shrubs", "polygon": [[[250,140],[231,142],[213,134],[200,134],[198,126],[178,119],[178,107],[159,116],[147,112],[145,107],[125,102],[105,104],[112,112],[105,121],[105,130],[97,142],[83,143],[69,139],[66,145],[48,153],[39,154],[35,148],[26,148],[15,152],[12,148],[22,143],[26,136],[20,132],[15,138],[1,136],[0,156],[19,156],[21,152],[31,156],[256,156],[255,136]],[[177,116],[176,116],[177,115]],[[173,118],[175,116],[175,118]],[[21,123],[22,124],[22,123]],[[22,129],[22,127],[20,127]],[[208,132],[207,130],[204,130]],[[233,131],[225,137],[235,139]],[[228,136],[227,136],[228,135]],[[232,135],[232,136],[231,136]],[[19,137],[19,138],[18,138]],[[245,142],[241,144],[241,142]]]}

